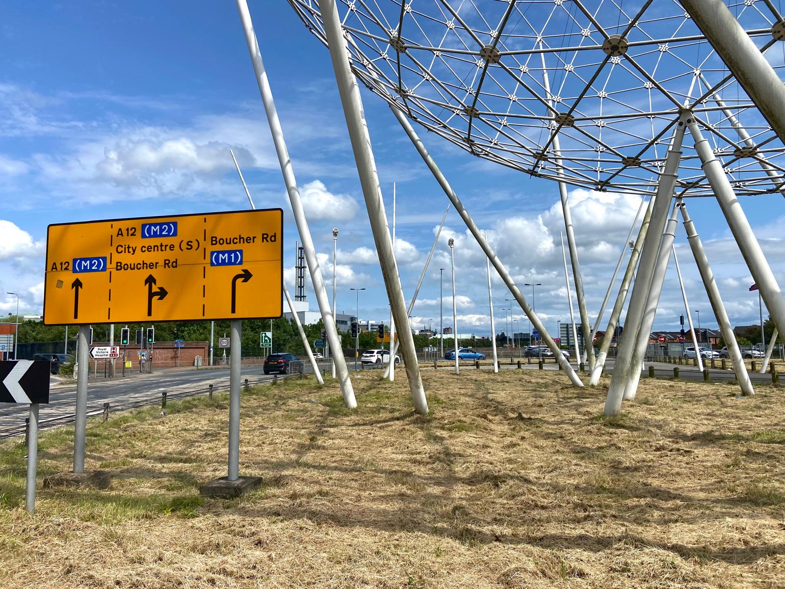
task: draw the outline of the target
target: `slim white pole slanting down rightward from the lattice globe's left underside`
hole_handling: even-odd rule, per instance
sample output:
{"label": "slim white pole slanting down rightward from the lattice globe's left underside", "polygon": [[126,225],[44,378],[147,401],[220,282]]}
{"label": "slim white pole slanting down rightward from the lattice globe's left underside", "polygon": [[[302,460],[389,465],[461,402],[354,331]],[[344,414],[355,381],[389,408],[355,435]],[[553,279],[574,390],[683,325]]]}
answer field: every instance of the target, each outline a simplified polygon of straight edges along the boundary
{"label": "slim white pole slanting down rightward from the lattice globe's left underside", "polygon": [[444,190],[444,194],[447,195],[447,198],[450,199],[452,206],[455,207],[455,210],[458,211],[458,214],[466,224],[469,232],[471,232],[472,236],[480,245],[487,258],[491,260],[491,264],[496,269],[496,272],[506,287],[509,288],[510,293],[512,293],[515,297],[515,300],[517,300],[520,308],[523,309],[524,313],[526,313],[526,316],[528,316],[532,327],[539,331],[542,341],[545,342],[546,346],[548,346],[548,348],[553,352],[557,362],[560,364],[565,374],[568,375],[568,378],[572,384],[575,386],[583,386],[583,382],[581,381],[580,377],[575,374],[575,370],[572,369],[571,364],[569,364],[569,362],[561,354],[559,347],[556,345],[556,342],[553,341],[553,338],[550,337],[550,334],[546,330],[545,325],[542,324],[539,316],[535,314],[534,309],[531,308],[531,305],[529,305],[528,301],[524,297],[524,294],[520,291],[520,288],[518,288],[517,284],[515,284],[513,277],[509,275],[509,271],[506,269],[505,265],[502,264],[501,260],[499,260],[496,256],[495,252],[491,248],[490,243],[487,242],[480,232],[480,228],[477,227],[473,218],[469,214],[469,211],[466,210],[466,207],[463,206],[461,199],[458,198],[458,195],[447,181],[447,178],[444,177],[444,174],[442,174],[439,166],[436,166],[436,162],[433,160],[428,150],[425,149],[425,145],[423,145],[420,137],[418,137],[417,133],[414,131],[414,127],[411,126],[411,123],[409,123],[406,115],[403,115],[403,112],[400,112],[398,108],[392,105],[390,105],[390,109],[392,110],[392,114],[395,115],[396,119],[398,119],[400,126],[402,126],[403,130],[406,131],[406,134],[408,135],[409,139],[411,139],[414,147],[417,148],[418,153],[425,161],[425,164],[429,167],[429,170],[431,170],[433,177],[435,177],[436,181],[439,182],[439,185]]}

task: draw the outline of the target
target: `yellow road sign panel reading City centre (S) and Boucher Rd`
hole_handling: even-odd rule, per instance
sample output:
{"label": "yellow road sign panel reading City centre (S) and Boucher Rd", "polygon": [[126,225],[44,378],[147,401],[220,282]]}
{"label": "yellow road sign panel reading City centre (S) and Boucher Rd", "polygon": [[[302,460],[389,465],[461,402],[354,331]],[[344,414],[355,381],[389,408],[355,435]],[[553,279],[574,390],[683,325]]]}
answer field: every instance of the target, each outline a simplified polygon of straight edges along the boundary
{"label": "yellow road sign panel reading City centre (S) and Boucher Rd", "polygon": [[45,324],[283,314],[283,210],[49,225]]}

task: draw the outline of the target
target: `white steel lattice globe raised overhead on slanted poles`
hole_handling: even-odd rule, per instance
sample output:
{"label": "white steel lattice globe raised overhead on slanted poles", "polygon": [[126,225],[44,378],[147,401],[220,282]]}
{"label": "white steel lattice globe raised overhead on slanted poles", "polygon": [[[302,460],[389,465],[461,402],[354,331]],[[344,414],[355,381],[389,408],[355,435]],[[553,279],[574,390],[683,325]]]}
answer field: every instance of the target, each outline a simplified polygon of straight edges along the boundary
{"label": "white steel lattice globe raised overhead on slanted poles", "polygon": [[[289,0],[324,42],[315,0]],[[729,8],[778,73],[771,2]],[[474,155],[593,190],[651,193],[681,109],[739,195],[780,192],[783,143],[675,0],[338,0],[352,67]],[[685,141],[676,194],[710,195]]]}

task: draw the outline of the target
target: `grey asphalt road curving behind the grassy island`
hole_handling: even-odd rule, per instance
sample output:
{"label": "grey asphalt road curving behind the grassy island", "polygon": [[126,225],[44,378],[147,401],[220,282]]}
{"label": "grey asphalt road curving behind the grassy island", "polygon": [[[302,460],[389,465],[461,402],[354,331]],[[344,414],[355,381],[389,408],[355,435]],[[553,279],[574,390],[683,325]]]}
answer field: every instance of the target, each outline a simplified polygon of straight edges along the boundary
{"label": "grey asphalt road curving behind the grassy island", "polygon": [[[351,360],[347,363],[349,370],[354,369],[354,362]],[[613,372],[614,360],[608,359],[606,364],[606,371]],[[674,364],[666,364],[662,362],[647,363],[655,367],[655,376],[658,378],[669,379],[674,375]],[[324,363],[324,368],[329,371],[329,364]],[[422,364],[423,369],[429,369],[430,364]],[[310,372],[310,366],[305,365],[306,371]],[[384,368],[382,365],[370,364],[365,369],[381,370]],[[516,364],[505,364],[502,360],[502,370],[516,370]],[[538,370],[537,364],[522,364],[521,368],[526,370]],[[681,379],[689,381],[703,381],[703,373],[698,371],[697,368],[692,366],[679,366]],[[433,370],[433,368],[430,368]],[[462,370],[474,370],[473,362],[465,362],[461,365]],[[484,366],[481,370],[491,370],[490,366]],[[556,364],[544,364],[544,370],[556,371]],[[587,368],[588,369],[588,368]],[[403,368],[398,368],[403,370]],[[453,370],[451,365],[440,365],[438,370]],[[272,376],[265,376],[261,365],[246,366],[242,368],[243,379],[250,379],[251,382],[264,382],[272,380]],[[648,376],[648,368],[643,371],[643,377]],[[717,382],[728,382],[735,379],[732,370],[710,369],[710,380]],[[754,384],[771,383],[772,377],[769,374],[761,375],[757,372],[750,372],[750,379]],[[134,374],[126,376],[125,378],[119,377],[114,380],[109,379],[90,379],[88,386],[87,410],[88,412],[97,411],[103,408],[104,403],[110,404],[111,408],[120,408],[123,405],[141,402],[141,401],[158,401],[161,393],[166,391],[167,395],[174,395],[176,393],[184,393],[193,390],[205,390],[208,385],[213,384],[215,390],[228,390],[229,386],[229,369],[226,368],[184,368],[178,370],[155,371],[152,374]],[[68,418],[74,415],[76,397],[75,385],[61,385],[57,379],[53,379],[53,386],[49,394],[49,404],[41,406],[40,419],[53,418]],[[24,424],[24,419],[28,415],[27,405],[13,405],[2,404],[0,405],[0,430],[8,427],[20,426]]]}

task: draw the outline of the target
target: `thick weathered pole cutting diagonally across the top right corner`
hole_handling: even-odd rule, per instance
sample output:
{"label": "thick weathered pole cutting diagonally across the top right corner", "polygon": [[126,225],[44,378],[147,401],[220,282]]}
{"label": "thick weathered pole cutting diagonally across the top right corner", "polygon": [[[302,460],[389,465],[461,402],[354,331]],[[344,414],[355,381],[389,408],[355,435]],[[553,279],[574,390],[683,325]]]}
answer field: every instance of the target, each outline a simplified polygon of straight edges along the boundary
{"label": "thick weathered pole cutting diagonally across the top right corner", "polygon": [[774,132],[785,139],[783,82],[725,2],[681,0],[681,5],[692,16],[703,35],[706,35],[717,56],[728,66]]}

